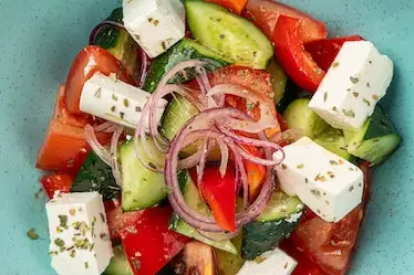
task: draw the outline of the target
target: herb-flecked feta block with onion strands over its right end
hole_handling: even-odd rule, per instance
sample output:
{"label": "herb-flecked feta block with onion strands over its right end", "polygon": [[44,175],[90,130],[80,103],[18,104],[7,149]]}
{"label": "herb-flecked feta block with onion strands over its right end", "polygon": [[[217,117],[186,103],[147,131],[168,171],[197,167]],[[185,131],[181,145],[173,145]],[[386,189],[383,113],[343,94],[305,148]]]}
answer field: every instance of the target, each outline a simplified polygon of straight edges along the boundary
{"label": "herb-flecked feta block with onion strands over its right end", "polygon": [[[148,98],[149,94],[143,89],[116,80],[116,77],[95,73],[83,86],[80,108],[86,114],[128,128],[136,128]],[[156,106],[157,125],[166,105],[167,101],[162,99]],[[144,121],[144,128],[148,129],[147,119]]]}

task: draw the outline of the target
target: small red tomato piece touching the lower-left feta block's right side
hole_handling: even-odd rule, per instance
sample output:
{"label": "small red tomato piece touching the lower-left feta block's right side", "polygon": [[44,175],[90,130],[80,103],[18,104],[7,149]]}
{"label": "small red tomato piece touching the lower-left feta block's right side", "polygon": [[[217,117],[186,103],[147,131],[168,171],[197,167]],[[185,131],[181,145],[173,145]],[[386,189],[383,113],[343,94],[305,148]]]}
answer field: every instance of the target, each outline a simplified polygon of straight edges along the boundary
{"label": "small red tomato piece touching the lower-left feta block's right side", "polygon": [[121,240],[121,232],[125,229],[134,230],[138,224],[143,211],[124,212],[121,202],[105,201],[107,225],[111,240]]}

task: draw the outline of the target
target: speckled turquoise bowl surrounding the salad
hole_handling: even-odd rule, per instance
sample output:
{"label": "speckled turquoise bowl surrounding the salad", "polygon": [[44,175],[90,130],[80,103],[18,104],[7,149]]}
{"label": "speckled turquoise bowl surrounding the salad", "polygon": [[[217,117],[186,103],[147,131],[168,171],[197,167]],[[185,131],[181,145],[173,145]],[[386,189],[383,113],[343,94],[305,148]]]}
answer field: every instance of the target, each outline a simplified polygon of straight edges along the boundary
{"label": "speckled turquoise bowl surrounding the salad", "polygon": [[[375,169],[352,275],[414,274],[414,1],[290,0],[331,35],[361,34],[396,65],[382,101],[404,142]],[[52,275],[44,199],[34,169],[58,84],[117,1],[0,0],[0,274]],[[31,241],[34,228],[40,240]],[[75,274],[74,274],[75,275]]]}

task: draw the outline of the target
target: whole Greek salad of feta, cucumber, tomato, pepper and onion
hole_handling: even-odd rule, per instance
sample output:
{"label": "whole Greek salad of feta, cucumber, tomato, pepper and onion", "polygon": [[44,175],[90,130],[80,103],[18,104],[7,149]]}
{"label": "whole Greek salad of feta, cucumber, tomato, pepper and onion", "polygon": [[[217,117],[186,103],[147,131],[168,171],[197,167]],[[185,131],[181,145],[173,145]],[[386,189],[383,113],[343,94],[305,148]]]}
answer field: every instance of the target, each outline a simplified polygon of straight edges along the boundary
{"label": "whole Greek salad of feta, cucumber, tomato, pepper and onion", "polygon": [[393,62],[271,0],[124,0],[37,168],[60,275],[343,275],[401,137]]}

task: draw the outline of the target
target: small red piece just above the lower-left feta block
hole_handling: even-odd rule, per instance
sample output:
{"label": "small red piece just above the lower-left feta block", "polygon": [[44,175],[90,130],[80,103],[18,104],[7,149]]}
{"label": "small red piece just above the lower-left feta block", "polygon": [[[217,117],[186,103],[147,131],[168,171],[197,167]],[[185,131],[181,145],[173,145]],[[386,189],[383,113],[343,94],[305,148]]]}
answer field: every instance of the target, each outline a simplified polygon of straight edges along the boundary
{"label": "small red piece just above the lower-left feta block", "polygon": [[49,199],[53,198],[54,192],[69,193],[71,191],[74,178],[69,173],[52,173],[40,179],[44,192]]}

